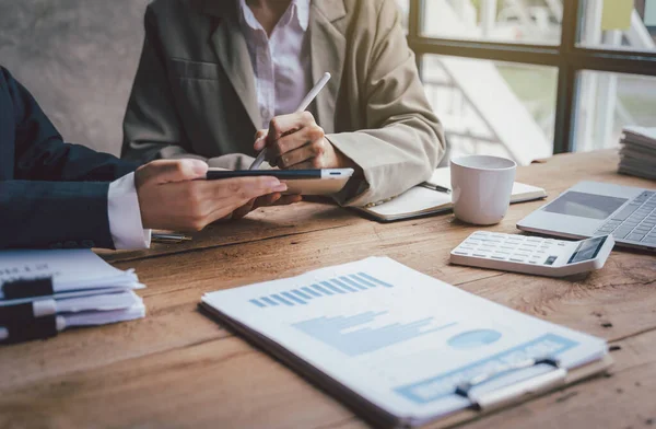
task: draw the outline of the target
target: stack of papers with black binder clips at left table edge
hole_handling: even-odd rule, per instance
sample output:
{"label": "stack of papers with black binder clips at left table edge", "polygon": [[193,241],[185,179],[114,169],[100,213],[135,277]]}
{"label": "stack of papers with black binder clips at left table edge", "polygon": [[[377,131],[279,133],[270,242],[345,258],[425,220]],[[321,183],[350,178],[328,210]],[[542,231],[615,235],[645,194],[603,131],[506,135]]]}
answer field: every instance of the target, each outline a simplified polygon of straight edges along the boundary
{"label": "stack of papers with black binder clips at left table edge", "polygon": [[143,287],[89,250],[0,251],[0,344],[143,317]]}

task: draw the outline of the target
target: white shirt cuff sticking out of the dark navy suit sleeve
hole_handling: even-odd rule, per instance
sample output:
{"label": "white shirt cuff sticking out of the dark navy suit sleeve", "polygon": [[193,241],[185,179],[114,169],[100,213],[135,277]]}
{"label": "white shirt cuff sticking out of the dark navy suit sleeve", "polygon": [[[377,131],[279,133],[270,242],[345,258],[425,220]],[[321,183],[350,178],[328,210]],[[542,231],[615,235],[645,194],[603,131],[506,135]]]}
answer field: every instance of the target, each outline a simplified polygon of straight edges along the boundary
{"label": "white shirt cuff sticking out of the dark navy suit sleeve", "polygon": [[149,248],[151,230],[141,223],[141,209],[134,187],[134,173],[109,184],[107,195],[109,232],[117,250]]}

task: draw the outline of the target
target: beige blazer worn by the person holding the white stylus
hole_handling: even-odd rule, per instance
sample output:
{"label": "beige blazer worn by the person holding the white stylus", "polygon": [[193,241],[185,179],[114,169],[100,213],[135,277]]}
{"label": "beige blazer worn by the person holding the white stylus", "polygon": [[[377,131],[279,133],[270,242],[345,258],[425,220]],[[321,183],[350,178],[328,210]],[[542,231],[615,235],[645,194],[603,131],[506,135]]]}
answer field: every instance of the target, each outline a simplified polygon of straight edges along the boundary
{"label": "beige blazer worn by the person holding the white stylus", "polygon": [[[148,7],[124,121],[125,158],[232,154],[224,166],[247,167],[261,118],[237,3],[155,0]],[[364,171],[338,201],[362,206],[429,178],[444,154],[444,136],[395,1],[314,0],[308,31],[313,81],[332,74],[311,111],[328,140]]]}

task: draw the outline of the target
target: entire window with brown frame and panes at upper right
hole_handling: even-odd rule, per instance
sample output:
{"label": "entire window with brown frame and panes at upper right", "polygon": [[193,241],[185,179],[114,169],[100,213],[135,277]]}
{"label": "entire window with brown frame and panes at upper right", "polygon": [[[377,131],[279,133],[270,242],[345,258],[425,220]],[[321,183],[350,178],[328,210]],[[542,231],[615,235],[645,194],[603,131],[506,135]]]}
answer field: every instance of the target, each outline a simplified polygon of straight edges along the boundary
{"label": "entire window with brown frame and panes at upper right", "polygon": [[656,126],[656,0],[397,0],[452,155],[618,146]]}

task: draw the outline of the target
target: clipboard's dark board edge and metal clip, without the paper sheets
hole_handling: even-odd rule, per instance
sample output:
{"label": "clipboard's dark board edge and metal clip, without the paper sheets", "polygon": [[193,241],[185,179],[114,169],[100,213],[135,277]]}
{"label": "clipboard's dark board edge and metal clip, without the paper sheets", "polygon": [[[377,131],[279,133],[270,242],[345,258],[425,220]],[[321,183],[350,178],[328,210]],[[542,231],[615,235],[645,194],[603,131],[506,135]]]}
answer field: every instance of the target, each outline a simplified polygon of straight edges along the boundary
{"label": "clipboard's dark board edge and metal clip, without the paper sheets", "polygon": [[[276,359],[280,360],[286,367],[302,375],[308,382],[315,386],[321,389],[326,393],[330,394],[336,401],[344,404],[353,410],[358,416],[365,420],[376,425],[376,427],[384,428],[408,428],[415,427],[418,425],[411,425],[410,421],[405,421],[387,413],[385,409],[379,408],[375,404],[366,401],[364,397],[355,394],[353,391],[348,389],[342,383],[330,378],[328,374],[318,371],[315,367],[300,359],[297,356],[292,353],[285,347],[271,340],[270,338],[258,335],[256,332],[248,329],[239,322],[221,313],[216,309],[206,303],[198,304],[199,310],[214,320],[225,324],[230,329],[241,335],[251,345],[260,348],[263,352],[272,355]],[[532,364],[546,363],[549,359],[535,359]],[[546,374],[541,374],[535,378],[523,380],[518,383],[502,387],[490,394],[478,397],[475,405],[455,411],[448,416],[435,419],[419,427],[430,427],[431,429],[445,429],[456,425],[461,425],[469,421],[475,421],[485,416],[499,413],[501,410],[511,408],[515,405],[525,403],[532,398],[542,396],[558,389],[562,389],[570,384],[579,382],[582,380],[590,379],[595,375],[604,373],[608,370],[613,360],[610,355],[605,355],[601,359],[593,361],[590,363],[577,367],[572,370],[560,368],[555,360],[548,362],[554,367],[553,371]],[[520,367],[518,369],[525,369],[527,367]],[[493,374],[497,375],[497,374]],[[483,380],[479,383],[482,383]],[[478,381],[475,380],[476,384]],[[471,383],[471,382],[470,382]],[[468,394],[465,386],[458,386],[462,389],[459,394]]]}

